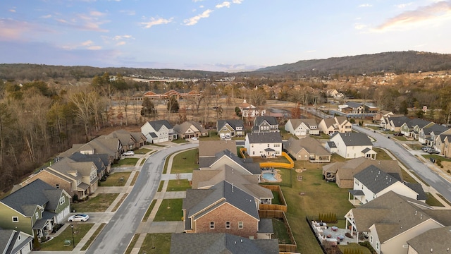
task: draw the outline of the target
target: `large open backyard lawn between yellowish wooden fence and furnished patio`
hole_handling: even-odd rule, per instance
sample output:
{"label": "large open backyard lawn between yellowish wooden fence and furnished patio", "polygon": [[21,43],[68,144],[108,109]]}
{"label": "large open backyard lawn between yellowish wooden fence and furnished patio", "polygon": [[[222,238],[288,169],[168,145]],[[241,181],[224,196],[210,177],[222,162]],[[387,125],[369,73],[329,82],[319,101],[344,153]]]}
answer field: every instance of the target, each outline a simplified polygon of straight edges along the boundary
{"label": "large open backyard lawn between yellowish wooden fence and furnished patio", "polygon": [[340,218],[353,207],[347,201],[348,190],[323,181],[322,169],[318,168],[308,164],[307,170],[299,173],[302,181],[297,181],[296,171],[290,171],[292,187],[282,186],[283,195],[288,202],[286,216],[300,253],[323,253],[304,219],[306,216],[317,217],[320,213],[332,212]]}

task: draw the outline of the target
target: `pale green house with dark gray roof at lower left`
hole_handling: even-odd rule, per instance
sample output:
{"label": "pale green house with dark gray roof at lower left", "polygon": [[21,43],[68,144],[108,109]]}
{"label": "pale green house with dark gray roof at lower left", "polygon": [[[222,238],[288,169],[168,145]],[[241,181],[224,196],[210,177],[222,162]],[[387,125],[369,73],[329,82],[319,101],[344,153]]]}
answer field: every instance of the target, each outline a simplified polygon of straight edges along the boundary
{"label": "pale green house with dark gray roof at lower left", "polygon": [[39,238],[66,222],[69,213],[70,195],[37,179],[0,200],[0,228]]}

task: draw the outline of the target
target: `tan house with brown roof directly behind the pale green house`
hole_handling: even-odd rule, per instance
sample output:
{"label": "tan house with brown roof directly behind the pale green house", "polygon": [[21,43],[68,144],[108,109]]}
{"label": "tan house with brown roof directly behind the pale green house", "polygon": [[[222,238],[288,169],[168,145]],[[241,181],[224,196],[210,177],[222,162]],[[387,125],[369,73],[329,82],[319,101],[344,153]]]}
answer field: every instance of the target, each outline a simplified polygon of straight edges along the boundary
{"label": "tan house with brown roof directly behind the pale green house", "polygon": [[97,190],[99,183],[97,167],[94,162],[77,162],[69,157],[62,158],[37,174],[30,176],[21,185],[26,186],[37,179],[56,189],[64,190],[75,200],[87,198]]}

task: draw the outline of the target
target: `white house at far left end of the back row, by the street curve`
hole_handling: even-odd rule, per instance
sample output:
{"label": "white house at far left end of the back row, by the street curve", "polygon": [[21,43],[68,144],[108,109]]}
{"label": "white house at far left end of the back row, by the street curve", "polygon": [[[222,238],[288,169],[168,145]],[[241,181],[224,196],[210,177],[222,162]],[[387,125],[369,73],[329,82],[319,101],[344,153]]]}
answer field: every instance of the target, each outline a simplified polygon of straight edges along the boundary
{"label": "white house at far left end of the back row, by the street curve", "polygon": [[149,143],[161,143],[177,139],[177,133],[167,120],[148,121],[141,126],[141,133]]}

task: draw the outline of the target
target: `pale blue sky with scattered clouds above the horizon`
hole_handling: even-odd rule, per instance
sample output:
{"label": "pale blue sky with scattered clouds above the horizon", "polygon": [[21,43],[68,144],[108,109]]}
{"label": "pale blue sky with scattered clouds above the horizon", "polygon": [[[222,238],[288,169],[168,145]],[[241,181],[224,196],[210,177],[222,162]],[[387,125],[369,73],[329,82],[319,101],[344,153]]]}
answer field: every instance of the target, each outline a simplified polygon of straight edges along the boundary
{"label": "pale blue sky with scattered clouds above the horizon", "polygon": [[246,71],[451,53],[451,0],[1,0],[0,63]]}

